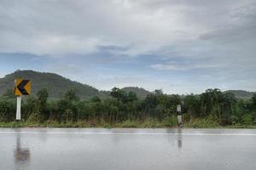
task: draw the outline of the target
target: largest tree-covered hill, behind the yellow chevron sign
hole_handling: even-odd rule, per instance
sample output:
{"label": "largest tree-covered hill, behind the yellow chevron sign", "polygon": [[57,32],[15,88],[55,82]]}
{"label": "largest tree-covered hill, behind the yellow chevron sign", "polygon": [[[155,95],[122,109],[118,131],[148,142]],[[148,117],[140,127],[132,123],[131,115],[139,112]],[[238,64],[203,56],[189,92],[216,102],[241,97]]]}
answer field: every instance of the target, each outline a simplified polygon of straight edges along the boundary
{"label": "largest tree-covered hill, behind the yellow chevron sign", "polygon": [[37,94],[38,90],[47,88],[50,98],[62,97],[68,89],[75,89],[81,98],[98,95],[99,91],[89,85],[80,82],[73,82],[65,77],[54,73],[37,72],[37,71],[15,71],[3,78],[0,78],[0,95],[4,94],[7,89],[14,87],[15,78],[32,80],[32,94]]}

